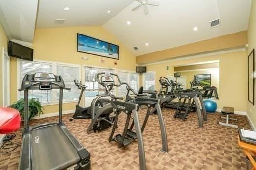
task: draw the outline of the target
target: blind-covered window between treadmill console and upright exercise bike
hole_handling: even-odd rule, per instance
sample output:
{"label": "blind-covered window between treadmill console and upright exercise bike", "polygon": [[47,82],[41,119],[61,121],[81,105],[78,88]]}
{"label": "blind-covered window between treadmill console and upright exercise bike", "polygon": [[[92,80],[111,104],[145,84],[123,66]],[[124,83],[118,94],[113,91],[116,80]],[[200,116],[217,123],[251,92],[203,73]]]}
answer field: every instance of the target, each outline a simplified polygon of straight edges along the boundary
{"label": "blind-covered window between treadmill console and upright exercise bike", "polygon": [[[74,80],[80,79],[80,67],[69,65],[57,65],[57,75],[60,75],[65,86],[71,88],[71,92],[68,90],[63,91],[63,102],[78,101],[80,90],[75,85]],[[59,90],[57,90],[57,101],[59,101]]]}

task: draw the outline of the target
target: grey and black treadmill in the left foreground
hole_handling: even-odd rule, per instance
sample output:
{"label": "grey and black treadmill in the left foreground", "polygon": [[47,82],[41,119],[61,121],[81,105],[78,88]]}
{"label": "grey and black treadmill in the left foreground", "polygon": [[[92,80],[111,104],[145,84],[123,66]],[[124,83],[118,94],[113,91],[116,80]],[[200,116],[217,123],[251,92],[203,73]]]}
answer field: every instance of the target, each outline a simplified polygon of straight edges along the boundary
{"label": "grey and black treadmill in the left foreground", "polygon": [[[59,121],[30,127],[29,90],[59,89]],[[89,170],[90,153],[62,122],[65,87],[61,76],[51,73],[26,74],[19,91],[24,91],[24,130],[19,170]]]}

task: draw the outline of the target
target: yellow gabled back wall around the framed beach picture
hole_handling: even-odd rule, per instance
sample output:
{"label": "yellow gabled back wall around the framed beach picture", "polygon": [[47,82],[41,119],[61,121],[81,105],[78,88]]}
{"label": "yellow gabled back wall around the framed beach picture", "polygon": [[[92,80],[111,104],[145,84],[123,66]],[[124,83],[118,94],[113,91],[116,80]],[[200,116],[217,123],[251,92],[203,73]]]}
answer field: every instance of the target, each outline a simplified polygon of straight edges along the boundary
{"label": "yellow gabled back wall around the framed beach picture", "polygon": [[[120,46],[120,60],[77,52],[77,33],[89,35]],[[112,34],[102,27],[68,27],[36,29],[33,41],[34,59],[135,70],[136,59]],[[89,57],[82,60],[81,57]],[[105,63],[100,63],[103,58]],[[117,65],[114,64],[117,62]],[[82,68],[82,67],[81,67]],[[11,59],[11,103],[17,100],[17,59]],[[58,105],[45,106],[45,113],[58,112]],[[75,103],[63,104],[63,111],[75,109]]]}

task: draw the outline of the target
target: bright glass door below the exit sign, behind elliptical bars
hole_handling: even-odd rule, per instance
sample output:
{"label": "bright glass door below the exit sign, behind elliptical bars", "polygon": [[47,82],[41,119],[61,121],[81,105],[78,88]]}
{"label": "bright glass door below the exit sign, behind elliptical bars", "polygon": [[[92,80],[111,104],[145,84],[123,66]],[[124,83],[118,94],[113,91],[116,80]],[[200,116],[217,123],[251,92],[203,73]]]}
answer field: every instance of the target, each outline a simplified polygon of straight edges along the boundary
{"label": "bright glass door below the exit sign, behind elliptical bars", "polygon": [[[114,73],[114,69],[84,66],[84,75],[85,75],[84,80],[85,80],[85,85],[88,86],[85,90],[85,106],[86,107],[91,105],[91,102],[97,95],[105,93],[105,89],[98,84],[97,74],[99,72]],[[113,91],[114,91],[114,88],[112,92]]]}

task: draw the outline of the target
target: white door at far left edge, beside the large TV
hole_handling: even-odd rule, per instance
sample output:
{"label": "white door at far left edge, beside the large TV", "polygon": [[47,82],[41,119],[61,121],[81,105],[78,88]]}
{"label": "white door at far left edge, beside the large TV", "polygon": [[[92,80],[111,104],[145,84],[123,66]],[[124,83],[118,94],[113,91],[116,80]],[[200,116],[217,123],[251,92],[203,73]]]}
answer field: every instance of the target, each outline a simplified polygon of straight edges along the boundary
{"label": "white door at far left edge, beside the large TV", "polygon": [[10,105],[10,57],[2,48],[3,106]]}

